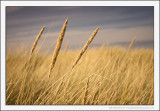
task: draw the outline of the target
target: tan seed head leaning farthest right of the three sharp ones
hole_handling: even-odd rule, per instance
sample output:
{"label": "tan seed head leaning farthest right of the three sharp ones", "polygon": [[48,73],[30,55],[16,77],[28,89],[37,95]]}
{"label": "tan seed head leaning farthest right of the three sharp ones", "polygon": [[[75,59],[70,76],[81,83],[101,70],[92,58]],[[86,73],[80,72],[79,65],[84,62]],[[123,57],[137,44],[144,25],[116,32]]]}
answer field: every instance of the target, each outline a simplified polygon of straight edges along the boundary
{"label": "tan seed head leaning farthest right of the three sharp ones", "polygon": [[93,38],[95,37],[95,35],[97,34],[99,30],[99,27],[96,28],[96,30],[93,32],[93,34],[90,36],[90,38],[88,39],[88,41],[86,42],[86,44],[84,45],[84,47],[82,48],[80,54],[78,55],[76,61],[73,63],[72,69],[75,67],[75,65],[78,63],[78,61],[80,60],[80,58],[82,57],[82,55],[84,54],[84,52],[87,50],[89,44],[92,42]]}

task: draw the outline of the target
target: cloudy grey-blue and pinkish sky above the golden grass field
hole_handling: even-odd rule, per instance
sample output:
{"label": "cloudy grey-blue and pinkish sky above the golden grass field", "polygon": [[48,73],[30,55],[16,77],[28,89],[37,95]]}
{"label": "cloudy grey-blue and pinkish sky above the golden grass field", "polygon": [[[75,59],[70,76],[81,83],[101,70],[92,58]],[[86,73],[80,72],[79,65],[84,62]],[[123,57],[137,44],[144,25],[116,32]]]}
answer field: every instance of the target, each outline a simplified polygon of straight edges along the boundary
{"label": "cloudy grey-blue and pinkish sky above the golden grass field", "polygon": [[63,47],[69,43],[70,49],[82,48],[92,32],[99,27],[90,47],[104,44],[128,46],[136,37],[134,47],[153,48],[152,6],[7,6],[7,47],[16,44],[32,46],[45,25],[41,41],[47,36],[44,48],[49,48],[57,40],[67,17]]}

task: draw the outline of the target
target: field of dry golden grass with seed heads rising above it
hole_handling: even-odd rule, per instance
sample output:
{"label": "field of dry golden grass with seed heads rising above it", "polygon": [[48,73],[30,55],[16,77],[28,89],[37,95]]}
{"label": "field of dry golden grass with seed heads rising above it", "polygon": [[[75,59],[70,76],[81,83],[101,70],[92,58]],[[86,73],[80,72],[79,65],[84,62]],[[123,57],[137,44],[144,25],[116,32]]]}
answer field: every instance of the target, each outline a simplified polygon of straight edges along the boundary
{"label": "field of dry golden grass with seed heads rising above it", "polygon": [[96,29],[82,50],[60,50],[66,24],[53,54],[38,52],[37,39],[31,51],[7,47],[7,105],[154,104],[152,49],[87,49]]}

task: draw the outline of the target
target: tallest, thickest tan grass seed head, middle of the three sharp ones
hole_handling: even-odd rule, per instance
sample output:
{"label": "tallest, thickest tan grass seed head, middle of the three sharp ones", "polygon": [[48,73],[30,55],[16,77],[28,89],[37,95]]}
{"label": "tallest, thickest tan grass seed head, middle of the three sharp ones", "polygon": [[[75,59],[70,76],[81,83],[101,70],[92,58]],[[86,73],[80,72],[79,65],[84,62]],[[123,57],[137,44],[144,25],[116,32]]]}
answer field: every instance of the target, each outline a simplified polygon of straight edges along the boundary
{"label": "tallest, thickest tan grass seed head, middle of the three sharp ones", "polygon": [[49,77],[50,77],[52,69],[54,68],[54,65],[56,63],[56,59],[57,59],[57,56],[59,54],[59,50],[61,48],[63,37],[64,37],[65,31],[66,31],[67,23],[68,23],[68,18],[66,19],[66,21],[65,21],[65,23],[64,23],[64,25],[61,29],[60,35],[59,35],[57,43],[56,43],[56,48],[53,52],[52,63],[51,63],[51,67],[50,67],[50,70],[49,70]]}

